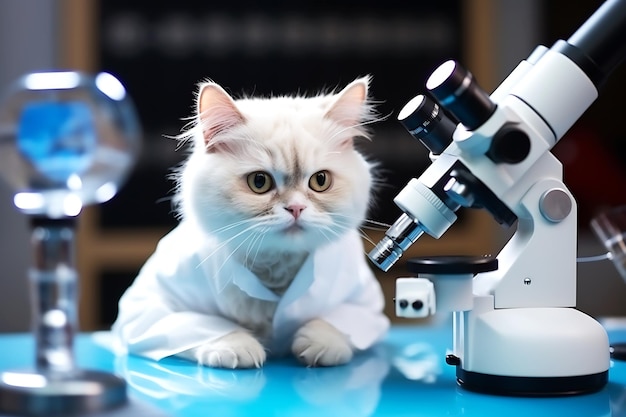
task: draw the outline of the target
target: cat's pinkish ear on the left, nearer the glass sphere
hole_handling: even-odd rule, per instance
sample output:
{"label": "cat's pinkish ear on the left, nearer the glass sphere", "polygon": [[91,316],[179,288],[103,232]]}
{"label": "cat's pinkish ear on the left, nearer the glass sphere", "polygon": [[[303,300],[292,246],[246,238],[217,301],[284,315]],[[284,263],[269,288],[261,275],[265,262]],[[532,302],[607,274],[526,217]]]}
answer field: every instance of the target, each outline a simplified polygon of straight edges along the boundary
{"label": "cat's pinkish ear on the left, nearer the glass sphere", "polygon": [[232,97],[214,82],[200,85],[197,112],[207,149],[216,135],[244,121]]}

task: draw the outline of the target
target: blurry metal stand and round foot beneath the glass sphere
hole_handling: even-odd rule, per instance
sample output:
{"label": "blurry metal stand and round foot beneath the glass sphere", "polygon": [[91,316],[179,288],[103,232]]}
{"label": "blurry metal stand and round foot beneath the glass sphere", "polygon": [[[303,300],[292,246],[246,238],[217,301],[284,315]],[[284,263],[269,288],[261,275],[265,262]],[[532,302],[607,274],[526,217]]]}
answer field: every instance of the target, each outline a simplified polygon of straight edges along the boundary
{"label": "blurry metal stand and round foot beneath the glass sphere", "polygon": [[0,412],[53,416],[102,411],[126,402],[115,375],[78,369],[74,218],[33,219],[35,266],[30,271],[36,369],[0,374]]}

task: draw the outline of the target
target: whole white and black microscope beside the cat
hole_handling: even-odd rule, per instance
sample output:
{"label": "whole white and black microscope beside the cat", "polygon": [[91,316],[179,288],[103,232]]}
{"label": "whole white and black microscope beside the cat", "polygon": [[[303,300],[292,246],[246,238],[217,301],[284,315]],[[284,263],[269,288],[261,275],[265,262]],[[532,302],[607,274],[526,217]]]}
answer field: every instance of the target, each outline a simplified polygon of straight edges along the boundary
{"label": "whole white and black microscope beside the cat", "polygon": [[451,60],[427,79],[430,97],[398,115],[432,164],[394,199],[403,214],[368,254],[375,265],[388,271],[424,233],[440,238],[462,207],[514,228],[497,259],[414,259],[420,277],[397,282],[399,315],[415,317],[411,306],[432,296],[426,281],[438,311],[446,300],[454,337],[446,361],[463,388],[554,396],[608,381],[606,331],[574,308],[576,201],[550,149],[624,57],[626,0],[608,0],[567,41],[537,47],[491,95]]}

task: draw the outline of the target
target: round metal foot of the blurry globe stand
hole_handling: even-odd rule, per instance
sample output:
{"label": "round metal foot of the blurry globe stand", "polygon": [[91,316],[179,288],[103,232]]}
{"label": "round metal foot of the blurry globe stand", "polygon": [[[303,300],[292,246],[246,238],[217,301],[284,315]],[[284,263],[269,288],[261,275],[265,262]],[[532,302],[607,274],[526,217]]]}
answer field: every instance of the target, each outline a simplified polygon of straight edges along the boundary
{"label": "round metal foot of the blurry globe stand", "polygon": [[106,372],[0,373],[0,414],[66,416],[112,409],[126,400],[126,382]]}

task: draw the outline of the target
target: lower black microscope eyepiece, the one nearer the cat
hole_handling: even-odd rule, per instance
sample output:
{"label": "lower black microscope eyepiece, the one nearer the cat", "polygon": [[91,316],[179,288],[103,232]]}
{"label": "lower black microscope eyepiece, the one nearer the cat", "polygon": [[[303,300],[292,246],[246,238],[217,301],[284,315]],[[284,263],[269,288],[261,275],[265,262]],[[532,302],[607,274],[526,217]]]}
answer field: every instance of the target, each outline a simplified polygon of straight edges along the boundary
{"label": "lower black microscope eyepiece, the one nearer the cat", "polygon": [[398,120],[434,155],[441,154],[448,147],[456,129],[456,124],[443,109],[422,94],[411,99],[400,110]]}

